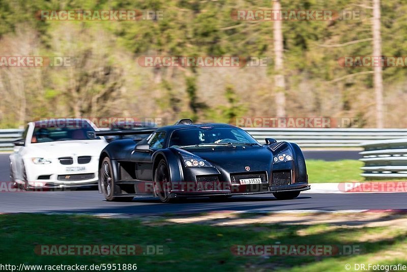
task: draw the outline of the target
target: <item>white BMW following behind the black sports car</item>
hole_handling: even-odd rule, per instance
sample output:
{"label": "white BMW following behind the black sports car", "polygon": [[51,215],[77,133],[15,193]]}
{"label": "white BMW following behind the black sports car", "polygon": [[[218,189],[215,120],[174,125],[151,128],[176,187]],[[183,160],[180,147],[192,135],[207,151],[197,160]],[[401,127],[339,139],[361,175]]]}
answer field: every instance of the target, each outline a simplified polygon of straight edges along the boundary
{"label": "white BMW following behind the black sports car", "polygon": [[93,137],[97,130],[84,119],[28,123],[10,155],[11,181],[25,189],[97,184],[100,152],[107,145]]}

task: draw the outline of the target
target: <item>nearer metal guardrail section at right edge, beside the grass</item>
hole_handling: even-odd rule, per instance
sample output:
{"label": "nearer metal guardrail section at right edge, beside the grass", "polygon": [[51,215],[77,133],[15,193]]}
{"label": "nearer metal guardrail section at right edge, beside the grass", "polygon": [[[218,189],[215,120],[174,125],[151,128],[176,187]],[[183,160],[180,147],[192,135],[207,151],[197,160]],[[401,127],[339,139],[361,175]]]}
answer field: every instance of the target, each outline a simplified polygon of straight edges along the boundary
{"label": "nearer metal guardrail section at right edge, beside the grass", "polygon": [[407,138],[363,143],[360,159],[366,178],[407,178]]}

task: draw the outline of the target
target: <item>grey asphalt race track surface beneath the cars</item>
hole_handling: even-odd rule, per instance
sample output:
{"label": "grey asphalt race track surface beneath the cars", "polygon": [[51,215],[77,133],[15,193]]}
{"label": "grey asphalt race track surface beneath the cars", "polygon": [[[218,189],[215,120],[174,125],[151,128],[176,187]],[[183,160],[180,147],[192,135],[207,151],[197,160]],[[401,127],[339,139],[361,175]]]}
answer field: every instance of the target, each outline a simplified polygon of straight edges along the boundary
{"label": "grey asphalt race track surface beneath the cars", "polygon": [[[357,151],[354,151],[354,153],[357,153]],[[332,152],[330,155],[329,158],[332,158]],[[347,154],[346,158],[351,158],[351,155]],[[0,181],[9,181],[8,154],[0,154]],[[187,199],[175,204],[161,204],[157,199],[148,197],[134,198],[132,202],[106,202],[97,191],[81,189],[80,191],[65,192],[0,192],[0,212],[177,214],[225,210],[248,212],[281,210],[383,210],[407,209],[406,197],[407,194],[405,193],[302,193],[297,199],[284,201],[278,201],[272,195],[256,195],[232,197],[222,202],[213,202],[208,198],[198,198]]]}

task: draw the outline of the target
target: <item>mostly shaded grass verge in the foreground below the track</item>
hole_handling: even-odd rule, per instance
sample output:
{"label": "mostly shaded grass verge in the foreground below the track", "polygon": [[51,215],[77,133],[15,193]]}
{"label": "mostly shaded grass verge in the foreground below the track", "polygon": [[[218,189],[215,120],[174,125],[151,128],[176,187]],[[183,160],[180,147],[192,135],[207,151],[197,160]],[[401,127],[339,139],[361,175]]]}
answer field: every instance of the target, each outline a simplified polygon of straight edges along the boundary
{"label": "mostly shaded grass verge in the foreground below the track", "polygon": [[[160,220],[162,222],[162,220]],[[259,228],[260,226],[260,228]],[[383,251],[407,253],[406,232],[395,231],[381,239],[386,228],[329,229],[327,225],[268,225],[219,227],[197,224],[146,225],[138,220],[100,219],[79,215],[0,215],[0,256],[3,264],[118,264],[136,263],[137,271],[344,271],[347,263],[367,263],[383,257]],[[299,235],[298,232],[302,234]],[[360,241],[364,234],[374,241]],[[361,255],[354,256],[235,256],[237,244],[357,244]],[[169,252],[155,256],[39,256],[41,244],[140,244],[164,245]],[[376,260],[377,262],[377,260]],[[396,257],[386,264],[402,262]]]}

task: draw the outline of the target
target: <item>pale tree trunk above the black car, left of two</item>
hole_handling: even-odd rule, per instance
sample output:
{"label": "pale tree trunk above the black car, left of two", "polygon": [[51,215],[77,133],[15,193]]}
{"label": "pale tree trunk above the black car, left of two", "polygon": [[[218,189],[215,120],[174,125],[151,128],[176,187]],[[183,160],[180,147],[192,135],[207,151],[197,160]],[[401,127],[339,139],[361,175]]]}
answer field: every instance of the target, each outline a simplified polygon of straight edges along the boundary
{"label": "pale tree trunk above the black car, left of two", "polygon": [[[280,0],[273,0],[273,10],[281,10]],[[274,55],[275,55],[275,87],[276,87],[276,114],[278,117],[285,116],[285,79],[283,65],[283,34],[281,31],[281,20],[274,21]]]}

